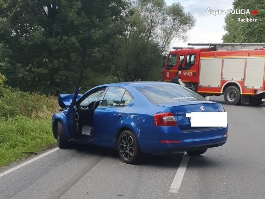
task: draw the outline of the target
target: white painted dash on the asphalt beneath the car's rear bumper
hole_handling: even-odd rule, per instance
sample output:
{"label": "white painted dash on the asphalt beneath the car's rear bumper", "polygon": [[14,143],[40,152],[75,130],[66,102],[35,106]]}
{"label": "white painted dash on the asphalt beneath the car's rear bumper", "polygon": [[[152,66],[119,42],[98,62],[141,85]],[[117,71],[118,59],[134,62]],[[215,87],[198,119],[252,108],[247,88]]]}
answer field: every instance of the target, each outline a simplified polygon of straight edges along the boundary
{"label": "white painted dash on the asphalt beneath the car's rear bumper", "polygon": [[169,189],[170,193],[178,193],[179,192],[179,188],[180,188],[186,167],[188,165],[188,160],[189,160],[189,155],[185,152],[183,157],[182,157],[182,160],[180,162],[179,168],[176,172],[176,175],[173,179],[171,187]]}

